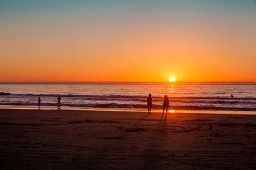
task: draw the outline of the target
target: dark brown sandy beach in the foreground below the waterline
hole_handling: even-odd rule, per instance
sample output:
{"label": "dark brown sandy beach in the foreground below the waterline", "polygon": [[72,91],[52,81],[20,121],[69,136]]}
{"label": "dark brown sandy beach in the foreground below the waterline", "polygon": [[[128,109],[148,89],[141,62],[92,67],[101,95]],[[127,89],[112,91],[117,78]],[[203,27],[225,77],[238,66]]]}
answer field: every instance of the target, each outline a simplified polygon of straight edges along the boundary
{"label": "dark brown sandy beach in the foreground below the waterline", "polygon": [[0,110],[1,169],[256,169],[256,115]]}

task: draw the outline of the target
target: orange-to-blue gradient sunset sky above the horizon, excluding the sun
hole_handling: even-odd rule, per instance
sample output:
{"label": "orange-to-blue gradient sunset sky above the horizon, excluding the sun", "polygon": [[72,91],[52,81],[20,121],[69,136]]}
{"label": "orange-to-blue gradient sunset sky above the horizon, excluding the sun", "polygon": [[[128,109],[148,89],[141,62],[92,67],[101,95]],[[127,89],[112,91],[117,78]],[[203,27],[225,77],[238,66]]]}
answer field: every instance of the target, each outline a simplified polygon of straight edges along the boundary
{"label": "orange-to-blue gradient sunset sky above the horizon, excluding the sun", "polygon": [[0,0],[0,81],[256,81],[254,0]]}

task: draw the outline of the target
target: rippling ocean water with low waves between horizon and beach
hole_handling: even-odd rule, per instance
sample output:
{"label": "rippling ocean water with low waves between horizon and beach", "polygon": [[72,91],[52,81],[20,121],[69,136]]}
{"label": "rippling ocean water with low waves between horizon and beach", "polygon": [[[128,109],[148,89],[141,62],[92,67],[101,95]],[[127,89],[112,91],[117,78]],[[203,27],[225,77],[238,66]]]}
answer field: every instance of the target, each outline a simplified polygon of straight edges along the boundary
{"label": "rippling ocean water with low waves between horizon and beach", "polygon": [[[161,110],[164,95],[171,110],[256,111],[256,85],[172,85],[161,83],[1,84],[0,107],[145,110],[148,94],[152,110]],[[230,97],[231,94],[234,98]]]}

